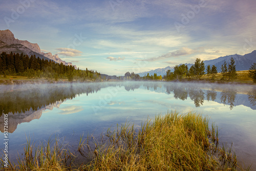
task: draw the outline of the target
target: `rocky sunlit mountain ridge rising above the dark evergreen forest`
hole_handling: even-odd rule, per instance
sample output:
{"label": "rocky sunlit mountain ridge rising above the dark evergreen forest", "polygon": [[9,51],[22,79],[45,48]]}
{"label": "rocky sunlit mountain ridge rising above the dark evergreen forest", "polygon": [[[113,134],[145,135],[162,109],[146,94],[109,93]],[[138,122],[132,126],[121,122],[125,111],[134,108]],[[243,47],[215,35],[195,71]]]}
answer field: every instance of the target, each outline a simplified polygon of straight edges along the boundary
{"label": "rocky sunlit mountain ridge rising above the dark evergreen forest", "polygon": [[[63,63],[63,65],[72,65],[71,62],[63,61],[59,56],[52,55],[52,53],[41,52],[40,47],[37,44],[32,44],[27,40],[19,40],[14,37],[14,34],[10,30],[0,30],[0,53],[23,53],[28,56],[35,55],[40,59],[54,60],[57,63]],[[74,65],[77,69],[77,67]]]}

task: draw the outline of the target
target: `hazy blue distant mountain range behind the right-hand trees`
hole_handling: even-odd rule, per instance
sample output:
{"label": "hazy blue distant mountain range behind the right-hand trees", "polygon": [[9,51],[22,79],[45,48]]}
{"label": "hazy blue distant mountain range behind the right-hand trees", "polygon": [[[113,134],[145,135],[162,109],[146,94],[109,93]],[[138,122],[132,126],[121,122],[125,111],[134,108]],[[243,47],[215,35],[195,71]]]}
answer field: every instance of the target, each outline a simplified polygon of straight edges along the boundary
{"label": "hazy blue distant mountain range behind the right-hand trees", "polygon": [[[217,67],[218,72],[220,72],[221,71],[221,65],[224,63],[224,61],[226,61],[227,63],[230,63],[230,58],[231,57],[235,61],[234,65],[236,65],[236,70],[237,71],[249,70],[252,63],[253,62],[256,63],[256,50],[252,51],[251,53],[245,54],[245,55],[234,54],[234,55],[222,56],[222,57],[212,59],[212,60],[205,60],[204,61],[205,69],[208,65],[210,65],[210,66],[215,65]],[[182,65],[182,64],[183,63],[181,63],[180,65]],[[193,63],[184,63],[184,64],[187,65],[188,68],[190,68],[193,65]],[[144,76],[144,75],[147,75],[147,73],[149,73],[150,75],[154,75],[154,73],[156,73],[157,75],[164,76],[166,74],[167,70],[170,70],[171,72],[173,72],[174,67],[169,67],[168,66],[166,68],[159,68],[159,69],[156,69],[156,70],[141,72],[141,73],[138,73],[138,74],[140,76]]]}

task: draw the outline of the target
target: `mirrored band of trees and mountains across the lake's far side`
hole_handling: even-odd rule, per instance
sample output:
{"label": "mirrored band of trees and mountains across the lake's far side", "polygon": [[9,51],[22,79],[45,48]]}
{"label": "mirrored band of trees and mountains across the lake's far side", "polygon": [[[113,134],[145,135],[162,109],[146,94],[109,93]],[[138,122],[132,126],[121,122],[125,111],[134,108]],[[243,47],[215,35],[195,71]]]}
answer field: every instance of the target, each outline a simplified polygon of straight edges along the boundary
{"label": "mirrored band of trees and mountains across the lake's far side", "polygon": [[[102,88],[120,87],[126,91],[145,89],[152,92],[165,93],[175,99],[194,101],[200,107],[207,101],[216,101],[228,105],[230,110],[243,104],[256,109],[256,88],[253,86],[228,87],[219,84],[191,84],[170,82],[112,82],[112,83],[76,83],[76,84],[42,84],[26,86],[0,87],[0,130],[3,132],[4,113],[9,114],[9,132],[13,133],[17,125],[39,119],[45,110],[59,108],[62,102],[81,94],[93,94]],[[246,91],[245,91],[246,90]],[[165,102],[166,103],[166,102]],[[124,104],[120,101],[109,101],[107,104]],[[168,104],[166,105],[168,106]],[[60,114],[78,113],[83,109],[79,105],[60,108]]]}

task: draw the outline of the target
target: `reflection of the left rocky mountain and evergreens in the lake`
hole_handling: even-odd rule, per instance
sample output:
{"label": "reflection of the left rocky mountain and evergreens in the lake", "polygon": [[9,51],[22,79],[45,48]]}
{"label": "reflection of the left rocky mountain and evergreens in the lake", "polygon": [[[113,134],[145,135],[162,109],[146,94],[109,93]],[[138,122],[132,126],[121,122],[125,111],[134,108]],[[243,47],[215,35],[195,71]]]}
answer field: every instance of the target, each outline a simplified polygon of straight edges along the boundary
{"label": "reflection of the left rocky mountain and evergreens in the lake", "polygon": [[[67,99],[80,94],[97,93],[109,84],[38,84],[1,86],[0,90],[0,131],[4,132],[4,115],[8,114],[8,132],[13,133],[17,125],[39,119],[45,110],[59,108]],[[82,111],[81,106],[61,108],[61,114]]]}

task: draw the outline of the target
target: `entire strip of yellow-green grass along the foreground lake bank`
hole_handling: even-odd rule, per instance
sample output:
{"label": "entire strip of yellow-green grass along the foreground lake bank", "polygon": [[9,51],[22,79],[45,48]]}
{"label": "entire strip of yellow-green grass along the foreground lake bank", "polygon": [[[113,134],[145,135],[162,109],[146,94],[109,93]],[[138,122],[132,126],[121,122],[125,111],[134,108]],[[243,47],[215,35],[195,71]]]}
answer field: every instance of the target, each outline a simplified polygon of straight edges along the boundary
{"label": "entire strip of yellow-green grass along the foreground lake bank", "polygon": [[28,141],[18,165],[9,162],[5,170],[246,170],[231,149],[219,146],[218,127],[208,124],[195,113],[168,112],[141,126],[117,125],[100,140],[81,137],[79,164],[58,141],[38,147]]}

